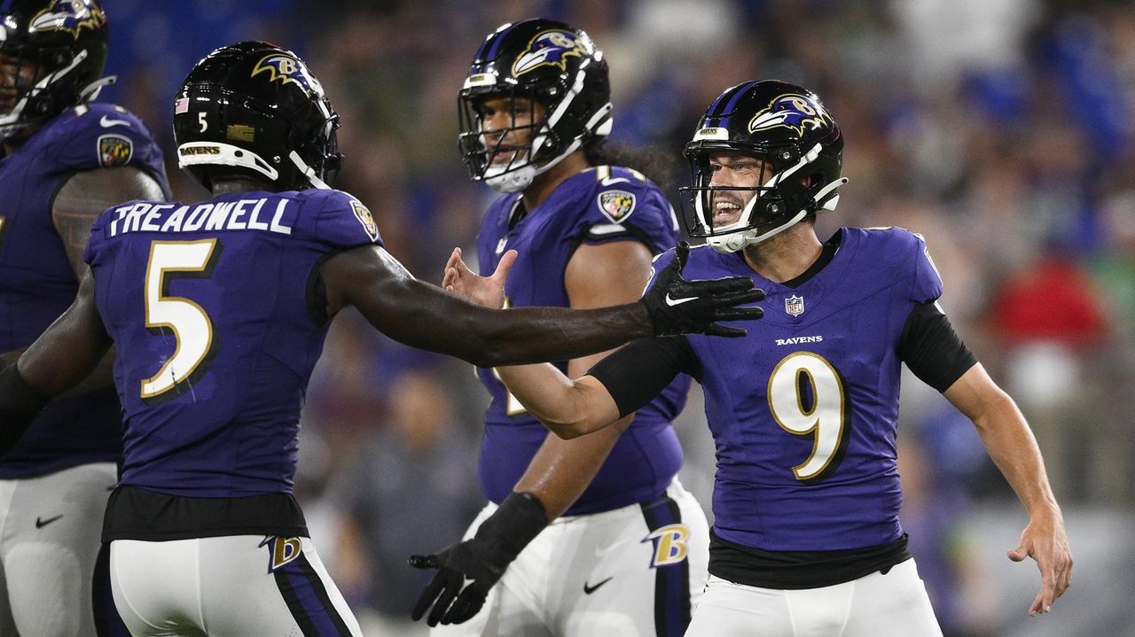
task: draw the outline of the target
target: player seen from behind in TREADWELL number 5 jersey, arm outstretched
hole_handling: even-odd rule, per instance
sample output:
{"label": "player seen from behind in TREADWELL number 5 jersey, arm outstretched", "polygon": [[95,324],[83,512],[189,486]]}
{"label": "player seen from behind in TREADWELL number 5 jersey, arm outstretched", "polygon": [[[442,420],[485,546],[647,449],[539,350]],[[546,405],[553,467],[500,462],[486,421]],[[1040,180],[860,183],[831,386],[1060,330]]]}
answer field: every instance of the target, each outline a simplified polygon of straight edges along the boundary
{"label": "player seen from behind in TREADWELL number 5 jersey, arm outstretched", "polygon": [[177,93],[174,134],[213,197],[104,211],[74,304],[0,372],[2,450],[117,346],[124,468],[103,540],[134,635],[359,635],[292,495],[304,390],[343,307],[484,366],[759,315],[732,307],[760,297],[751,281],[688,282],[676,265],[640,301],[588,312],[487,311],[422,283],[367,206],[327,186],[337,127],[294,53],[210,53]]}

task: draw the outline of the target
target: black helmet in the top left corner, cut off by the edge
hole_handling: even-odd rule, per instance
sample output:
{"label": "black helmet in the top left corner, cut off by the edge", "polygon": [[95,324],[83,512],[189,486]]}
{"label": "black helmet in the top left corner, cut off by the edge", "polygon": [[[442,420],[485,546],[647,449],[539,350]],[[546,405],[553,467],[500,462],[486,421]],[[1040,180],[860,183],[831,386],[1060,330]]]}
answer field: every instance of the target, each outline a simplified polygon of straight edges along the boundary
{"label": "black helmet in the top left corner, cut off by the edge", "polygon": [[103,78],[110,29],[99,0],[7,0],[0,3],[0,141],[94,99]]}

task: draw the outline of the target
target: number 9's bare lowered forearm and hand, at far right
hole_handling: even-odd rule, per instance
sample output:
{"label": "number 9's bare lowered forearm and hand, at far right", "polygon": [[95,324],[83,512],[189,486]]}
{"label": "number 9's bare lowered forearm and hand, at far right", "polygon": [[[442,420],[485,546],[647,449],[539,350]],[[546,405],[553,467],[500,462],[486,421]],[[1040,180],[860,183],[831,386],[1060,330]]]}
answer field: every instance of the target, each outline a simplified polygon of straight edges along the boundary
{"label": "number 9's bare lowered forearm and hand, at far right", "polygon": [[1036,560],[1041,591],[1028,612],[1046,613],[1052,602],[1071,585],[1073,558],[1063,516],[1049,486],[1033,432],[1012,398],[990,379],[980,363],[943,394],[974,422],[993,462],[1028,510],[1028,526],[1020,534],[1020,543],[1009,550],[1008,555],[1015,562],[1026,557]]}

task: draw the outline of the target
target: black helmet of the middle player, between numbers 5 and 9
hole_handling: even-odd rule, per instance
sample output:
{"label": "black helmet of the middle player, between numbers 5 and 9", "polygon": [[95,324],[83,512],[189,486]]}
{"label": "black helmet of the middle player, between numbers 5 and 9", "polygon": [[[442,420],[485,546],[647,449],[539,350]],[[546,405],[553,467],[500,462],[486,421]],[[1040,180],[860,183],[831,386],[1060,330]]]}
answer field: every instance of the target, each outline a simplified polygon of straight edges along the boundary
{"label": "black helmet of the middle player, between numbers 5 and 9", "polygon": [[[527,126],[514,124],[496,142],[488,141],[478,107],[490,95],[539,102],[545,116],[529,118]],[[543,18],[506,24],[473,56],[457,97],[457,146],[473,179],[515,193],[592,138],[609,135],[611,108],[607,62],[587,33]],[[531,130],[527,146],[502,145],[504,133],[522,128]],[[502,151],[511,151],[512,158],[493,163]]]}

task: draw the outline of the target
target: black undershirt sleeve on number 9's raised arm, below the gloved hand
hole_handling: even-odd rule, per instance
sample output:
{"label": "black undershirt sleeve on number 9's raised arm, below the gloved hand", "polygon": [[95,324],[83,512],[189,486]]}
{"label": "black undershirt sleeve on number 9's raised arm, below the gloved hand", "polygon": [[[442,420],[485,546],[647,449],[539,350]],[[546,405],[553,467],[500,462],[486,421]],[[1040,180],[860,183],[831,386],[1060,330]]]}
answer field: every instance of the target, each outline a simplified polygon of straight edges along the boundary
{"label": "black undershirt sleeve on number 9's raised arm, below the gloved hand", "polygon": [[701,370],[690,341],[686,337],[655,337],[630,342],[587,374],[607,388],[622,418],[650,402],[682,372],[700,382]]}

